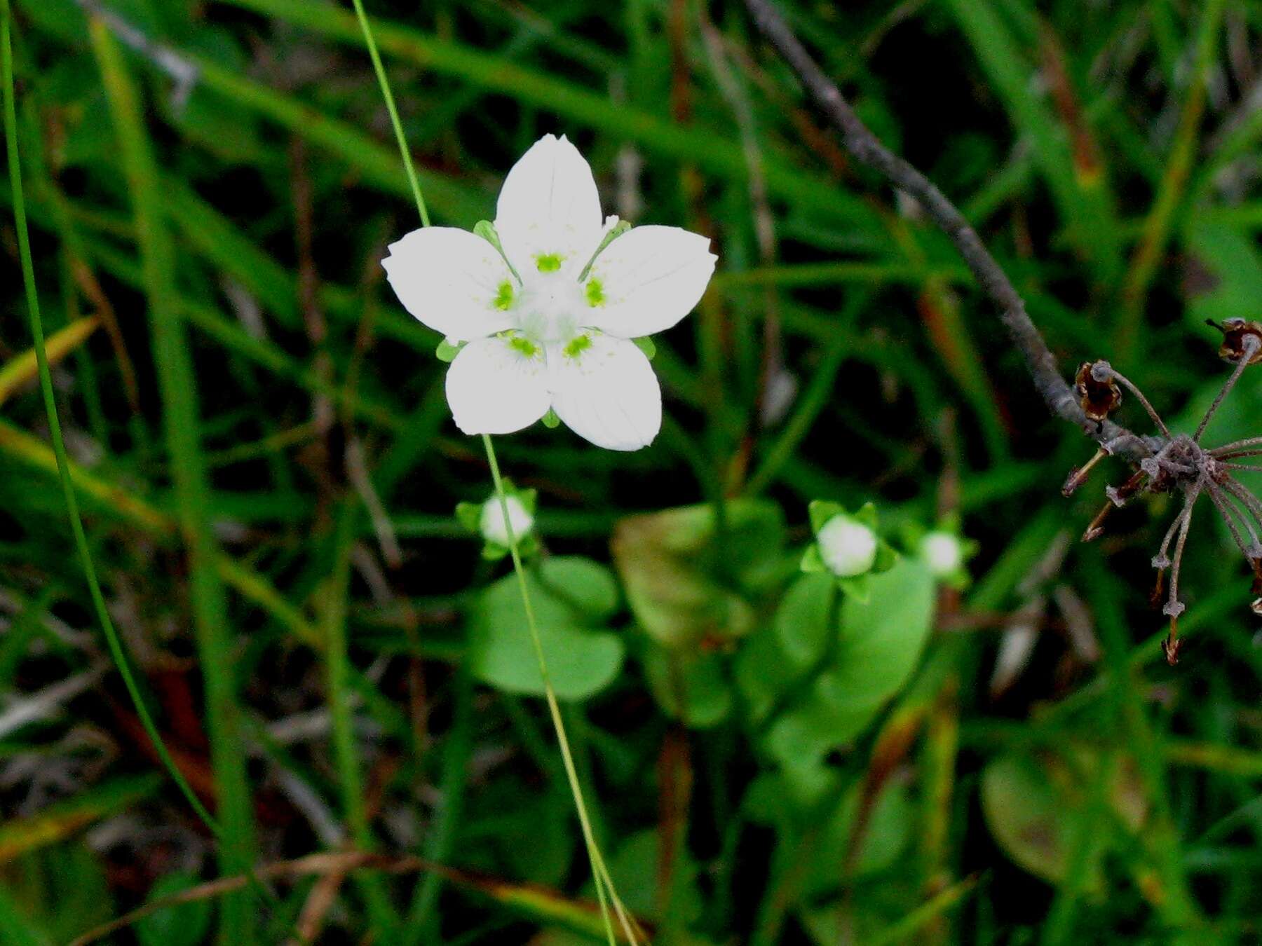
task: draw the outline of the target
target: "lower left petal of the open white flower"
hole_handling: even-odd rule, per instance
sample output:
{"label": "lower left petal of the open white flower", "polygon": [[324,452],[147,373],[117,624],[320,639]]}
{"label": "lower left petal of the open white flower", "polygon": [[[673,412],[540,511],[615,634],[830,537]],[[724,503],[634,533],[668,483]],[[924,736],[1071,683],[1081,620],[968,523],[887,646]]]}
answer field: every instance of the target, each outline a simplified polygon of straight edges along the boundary
{"label": "lower left petal of the open white flower", "polygon": [[549,402],[543,349],[528,356],[510,338],[469,342],[447,371],[447,404],[466,434],[521,430],[546,414]]}

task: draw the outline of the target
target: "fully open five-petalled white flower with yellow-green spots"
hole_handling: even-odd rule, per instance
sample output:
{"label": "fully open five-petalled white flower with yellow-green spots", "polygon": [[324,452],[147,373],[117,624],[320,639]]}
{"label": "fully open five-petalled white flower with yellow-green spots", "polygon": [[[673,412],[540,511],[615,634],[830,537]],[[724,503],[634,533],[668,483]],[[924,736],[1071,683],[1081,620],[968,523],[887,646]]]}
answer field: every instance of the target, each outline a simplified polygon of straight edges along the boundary
{"label": "fully open five-petalled white flower with yellow-green spots", "polygon": [[[448,342],[447,402],[466,434],[507,434],[555,411],[598,447],[636,450],[661,428],[661,390],[630,341],[692,312],[714,271],[709,241],[678,227],[613,236],[592,169],[546,135],[512,166],[495,230],[427,227],[384,265],[404,307]],[[599,251],[599,252],[598,252]],[[594,259],[593,259],[594,257]]]}

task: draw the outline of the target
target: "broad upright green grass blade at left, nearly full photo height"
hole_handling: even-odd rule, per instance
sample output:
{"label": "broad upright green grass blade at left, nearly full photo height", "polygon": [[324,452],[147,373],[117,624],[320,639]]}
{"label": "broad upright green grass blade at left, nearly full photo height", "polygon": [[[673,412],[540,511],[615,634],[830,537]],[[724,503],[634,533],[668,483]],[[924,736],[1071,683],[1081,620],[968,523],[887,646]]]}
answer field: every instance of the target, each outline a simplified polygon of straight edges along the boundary
{"label": "broad upright green grass blade at left, nearly full photo height", "polygon": [[[240,708],[232,667],[227,599],[215,568],[218,550],[206,521],[207,474],[199,443],[197,383],[184,325],[174,293],[174,257],[165,232],[163,189],[139,95],[109,26],[90,19],[92,48],[120,146],[131,193],[153,332],[154,362],[163,401],[177,520],[189,565],[193,624],[206,682],[211,764],[223,830],[220,864],[225,873],[250,870],[254,861],[254,816],[240,732]],[[225,942],[252,940],[255,917],[245,897],[223,901],[220,936]]]}

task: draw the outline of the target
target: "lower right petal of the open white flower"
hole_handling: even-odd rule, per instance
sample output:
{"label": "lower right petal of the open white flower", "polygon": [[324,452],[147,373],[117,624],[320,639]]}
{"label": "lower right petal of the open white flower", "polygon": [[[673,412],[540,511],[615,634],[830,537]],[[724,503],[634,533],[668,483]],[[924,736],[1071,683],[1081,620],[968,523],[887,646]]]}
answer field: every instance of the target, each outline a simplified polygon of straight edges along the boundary
{"label": "lower right petal of the open white flower", "polygon": [[644,352],[622,338],[583,336],[589,347],[549,346],[553,410],[597,447],[639,450],[661,429],[661,388]]}

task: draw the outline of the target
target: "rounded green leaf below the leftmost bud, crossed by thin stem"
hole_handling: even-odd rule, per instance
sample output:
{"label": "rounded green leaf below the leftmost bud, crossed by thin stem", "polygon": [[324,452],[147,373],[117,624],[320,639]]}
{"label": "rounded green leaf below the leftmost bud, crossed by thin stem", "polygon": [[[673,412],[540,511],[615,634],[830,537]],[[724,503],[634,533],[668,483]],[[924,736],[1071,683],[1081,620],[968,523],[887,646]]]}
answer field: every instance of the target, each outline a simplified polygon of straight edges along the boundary
{"label": "rounded green leaf below the leftmost bud, crossed by thin stem", "polygon": [[[539,639],[557,696],[581,700],[617,676],[625,650],[599,629],[617,603],[608,570],[587,559],[554,558],[528,574]],[[612,602],[612,603],[611,603]],[[543,677],[515,575],[478,595],[469,612],[473,675],[506,692],[543,695]]]}

